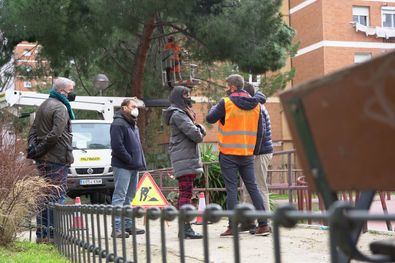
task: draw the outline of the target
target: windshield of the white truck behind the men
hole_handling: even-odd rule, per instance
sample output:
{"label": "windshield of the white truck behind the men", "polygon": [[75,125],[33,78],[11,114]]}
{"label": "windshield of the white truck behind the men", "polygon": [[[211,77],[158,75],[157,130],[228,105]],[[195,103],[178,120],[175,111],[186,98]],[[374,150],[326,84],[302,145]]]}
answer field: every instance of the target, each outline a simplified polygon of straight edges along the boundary
{"label": "windshield of the white truck behind the men", "polygon": [[110,123],[73,123],[74,149],[111,149]]}

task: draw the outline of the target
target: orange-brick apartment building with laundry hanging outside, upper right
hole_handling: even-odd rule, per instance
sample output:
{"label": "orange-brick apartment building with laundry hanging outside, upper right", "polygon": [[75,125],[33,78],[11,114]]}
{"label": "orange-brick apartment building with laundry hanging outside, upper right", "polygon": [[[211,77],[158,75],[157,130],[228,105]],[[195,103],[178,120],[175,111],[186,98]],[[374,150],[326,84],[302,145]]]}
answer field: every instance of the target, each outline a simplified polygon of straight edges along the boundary
{"label": "orange-brick apartment building with laundry hanging outside, upper right", "polygon": [[293,86],[395,48],[394,0],[290,0]]}

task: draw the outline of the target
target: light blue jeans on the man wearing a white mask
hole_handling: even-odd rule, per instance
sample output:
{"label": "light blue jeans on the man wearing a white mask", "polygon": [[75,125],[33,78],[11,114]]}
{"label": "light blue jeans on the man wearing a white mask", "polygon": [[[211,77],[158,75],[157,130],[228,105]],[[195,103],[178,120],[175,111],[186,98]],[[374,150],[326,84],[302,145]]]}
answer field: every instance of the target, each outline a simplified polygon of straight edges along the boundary
{"label": "light blue jeans on the man wearing a white mask", "polygon": [[[136,195],[137,182],[139,180],[136,170],[126,170],[123,168],[113,167],[115,188],[112,194],[113,206],[132,205]],[[132,219],[125,217],[125,228],[132,228]],[[115,217],[115,230],[121,229],[121,217]]]}

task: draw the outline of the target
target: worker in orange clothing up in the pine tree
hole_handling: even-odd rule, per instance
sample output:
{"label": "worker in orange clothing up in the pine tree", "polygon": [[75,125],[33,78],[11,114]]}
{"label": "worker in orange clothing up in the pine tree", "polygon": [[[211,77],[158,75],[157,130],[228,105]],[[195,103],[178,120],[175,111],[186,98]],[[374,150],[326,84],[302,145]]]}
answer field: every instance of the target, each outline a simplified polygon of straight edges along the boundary
{"label": "worker in orange clothing up in the pine tree", "polygon": [[175,42],[174,37],[170,36],[167,39],[167,43],[165,44],[164,51],[163,51],[163,58],[162,61],[165,65],[166,69],[166,79],[167,85],[172,88],[171,75],[174,75],[174,81],[182,80],[181,77],[181,48]]}

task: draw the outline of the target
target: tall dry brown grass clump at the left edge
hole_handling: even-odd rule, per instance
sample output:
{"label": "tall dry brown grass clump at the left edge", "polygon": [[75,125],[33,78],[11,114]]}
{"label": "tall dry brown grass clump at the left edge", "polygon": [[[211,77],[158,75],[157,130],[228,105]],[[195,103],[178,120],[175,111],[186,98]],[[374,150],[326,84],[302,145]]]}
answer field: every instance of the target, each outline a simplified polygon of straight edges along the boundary
{"label": "tall dry brown grass clump at the left edge", "polygon": [[0,121],[0,245],[13,242],[25,219],[35,213],[51,185],[25,158],[26,143],[11,122]]}

